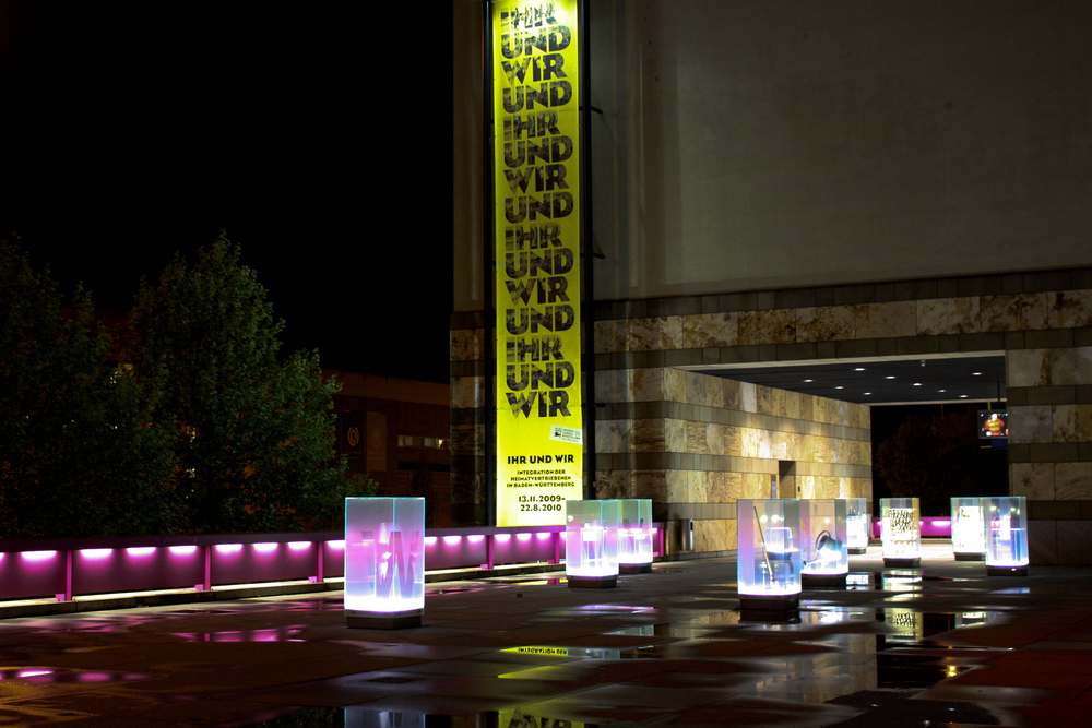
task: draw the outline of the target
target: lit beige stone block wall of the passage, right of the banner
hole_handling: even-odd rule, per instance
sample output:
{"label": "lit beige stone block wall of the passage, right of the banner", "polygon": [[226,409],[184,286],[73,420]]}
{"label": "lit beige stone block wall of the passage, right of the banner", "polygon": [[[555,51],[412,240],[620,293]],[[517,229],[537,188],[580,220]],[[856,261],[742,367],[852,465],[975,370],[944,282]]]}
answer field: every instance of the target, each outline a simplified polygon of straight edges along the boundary
{"label": "lit beige stone block wall of the passage, right of the banner", "polygon": [[650,498],[653,517],[692,521],[693,551],[736,548],[736,500],[871,498],[869,410],[667,367],[596,374],[598,498]]}

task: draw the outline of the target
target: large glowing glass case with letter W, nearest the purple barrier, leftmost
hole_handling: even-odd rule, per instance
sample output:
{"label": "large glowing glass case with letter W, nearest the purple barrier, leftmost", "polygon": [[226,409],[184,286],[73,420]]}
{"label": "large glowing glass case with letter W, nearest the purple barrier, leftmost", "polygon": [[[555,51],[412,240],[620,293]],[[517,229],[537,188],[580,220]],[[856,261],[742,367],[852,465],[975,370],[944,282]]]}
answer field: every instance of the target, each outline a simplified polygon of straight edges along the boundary
{"label": "large glowing glass case with letter W, nearest the purple barrier, leftmost", "polygon": [[345,499],[349,626],[419,626],[425,611],[425,499]]}

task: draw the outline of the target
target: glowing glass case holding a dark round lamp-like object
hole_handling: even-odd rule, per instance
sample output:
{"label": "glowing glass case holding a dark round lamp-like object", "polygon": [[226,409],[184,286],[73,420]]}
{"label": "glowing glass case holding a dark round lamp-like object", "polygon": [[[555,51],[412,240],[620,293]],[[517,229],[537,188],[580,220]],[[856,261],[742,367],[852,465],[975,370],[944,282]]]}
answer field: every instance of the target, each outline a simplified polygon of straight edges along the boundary
{"label": "glowing glass case holding a dark round lamp-like object", "polygon": [[841,499],[800,501],[800,583],[845,588],[850,573],[846,547],[846,502]]}

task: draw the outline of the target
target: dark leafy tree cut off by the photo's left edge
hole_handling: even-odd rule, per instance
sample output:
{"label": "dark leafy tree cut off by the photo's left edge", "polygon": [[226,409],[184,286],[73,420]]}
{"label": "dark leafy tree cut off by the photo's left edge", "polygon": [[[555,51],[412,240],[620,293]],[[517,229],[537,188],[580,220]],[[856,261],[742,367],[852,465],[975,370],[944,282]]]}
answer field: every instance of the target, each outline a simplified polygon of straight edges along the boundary
{"label": "dark leafy tree cut off by the photo's left edge", "polygon": [[66,300],[0,241],[0,538],[180,526],[155,382],[119,375],[110,348],[86,290]]}

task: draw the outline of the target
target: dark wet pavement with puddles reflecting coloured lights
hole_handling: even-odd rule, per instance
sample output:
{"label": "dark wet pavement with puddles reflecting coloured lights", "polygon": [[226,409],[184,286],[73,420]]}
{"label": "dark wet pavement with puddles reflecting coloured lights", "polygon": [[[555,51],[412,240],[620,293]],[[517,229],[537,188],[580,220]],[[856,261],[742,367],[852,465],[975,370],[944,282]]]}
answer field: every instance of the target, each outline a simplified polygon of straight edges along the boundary
{"label": "dark wet pavement with puddles reflecting coloured lights", "polygon": [[787,620],[738,610],[727,559],[431,583],[410,630],[345,626],[340,592],[3,619],[0,726],[1092,724],[1092,570],[950,553],[874,546]]}

